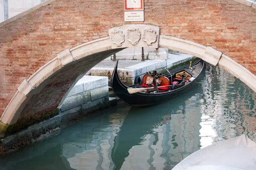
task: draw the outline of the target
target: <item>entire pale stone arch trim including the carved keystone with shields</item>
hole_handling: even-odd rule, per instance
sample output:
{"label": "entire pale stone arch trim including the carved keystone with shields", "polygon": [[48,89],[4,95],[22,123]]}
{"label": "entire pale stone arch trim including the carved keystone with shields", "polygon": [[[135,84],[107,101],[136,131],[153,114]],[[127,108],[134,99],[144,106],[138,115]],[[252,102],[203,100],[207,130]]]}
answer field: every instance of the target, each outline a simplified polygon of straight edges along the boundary
{"label": "entire pale stone arch trim including the carved keystone with shields", "polygon": [[[131,43],[129,40],[119,40],[119,38],[117,38],[115,40],[119,40],[120,42],[116,43],[113,39],[113,36],[111,35],[111,32],[115,32],[115,34],[117,33],[122,37],[122,35],[125,35],[125,33],[127,35],[127,30],[133,30],[134,27],[139,27],[140,29],[144,29],[144,31],[149,30],[148,32],[155,31],[153,37],[157,37],[157,40],[153,40],[153,42],[151,42],[151,40],[145,40],[145,38],[138,38],[137,41],[133,40],[133,42]],[[116,30],[119,30],[119,32],[117,32]],[[159,27],[147,25],[125,25],[122,27],[116,27],[110,29],[110,37],[93,40],[76,46],[72,49],[66,49],[63,52],[59,53],[55,58],[46,63],[32,76],[30,76],[27,80],[25,79],[20,84],[17,92],[13,96],[12,100],[9,102],[8,106],[3,112],[3,115],[0,118],[0,123],[2,124],[2,133],[5,133],[10,125],[14,125],[17,123],[20,117],[20,113],[23,111],[26,104],[32,100],[32,97],[34,95],[38,95],[43,92],[44,88],[47,86],[47,83],[51,81],[50,78],[57,76],[57,73],[60,72],[60,70],[63,70],[67,67],[74,68],[74,65],[78,61],[83,61],[84,63],[86,63],[86,61],[88,60],[90,61],[90,64],[88,64],[87,68],[84,69],[84,71],[88,71],[90,68],[95,66],[104,58],[112,55],[113,53],[119,52],[122,49],[131,46],[143,47],[145,45],[145,42],[148,44],[148,46],[152,46],[155,48],[163,47],[167,49],[174,49],[181,52],[186,52],[188,54],[195,55],[198,58],[202,58],[204,61],[207,61],[212,65],[218,65],[221,68],[226,69],[232,75],[239,78],[256,92],[256,87],[254,85],[256,83],[256,76],[253,75],[244,66],[241,66],[239,63],[234,61],[232,58],[222,54],[222,52],[219,52],[209,46],[203,46],[201,44],[194,43],[188,40],[183,40],[177,37],[160,35],[159,30]],[[145,32],[142,35],[145,36]],[[55,96],[55,98],[57,97],[58,96]],[[57,106],[55,105],[55,108],[53,107],[53,109],[55,110]]]}

